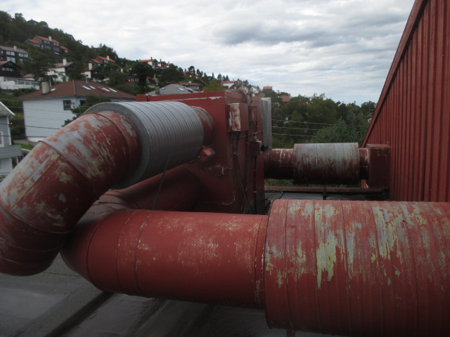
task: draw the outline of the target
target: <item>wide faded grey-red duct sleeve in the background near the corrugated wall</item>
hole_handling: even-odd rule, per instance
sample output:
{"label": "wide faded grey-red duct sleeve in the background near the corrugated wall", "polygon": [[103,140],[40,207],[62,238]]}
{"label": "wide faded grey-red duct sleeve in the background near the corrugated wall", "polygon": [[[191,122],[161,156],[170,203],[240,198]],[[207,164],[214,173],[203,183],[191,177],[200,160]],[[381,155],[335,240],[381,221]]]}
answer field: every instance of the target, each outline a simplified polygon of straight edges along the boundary
{"label": "wide faded grey-red duct sleeve in the background near the corrugated wall", "polygon": [[294,181],[300,184],[357,184],[358,143],[295,144]]}

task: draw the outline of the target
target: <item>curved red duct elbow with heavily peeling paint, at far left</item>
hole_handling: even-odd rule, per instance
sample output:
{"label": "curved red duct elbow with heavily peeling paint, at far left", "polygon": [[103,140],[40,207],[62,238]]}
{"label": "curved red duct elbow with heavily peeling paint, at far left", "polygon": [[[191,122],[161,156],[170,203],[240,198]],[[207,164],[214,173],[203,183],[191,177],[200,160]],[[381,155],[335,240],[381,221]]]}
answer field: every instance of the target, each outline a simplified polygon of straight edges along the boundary
{"label": "curved red duct elbow with heavily peeling paint, at far left", "polygon": [[49,267],[73,225],[141,155],[120,114],[86,114],[41,141],[0,184],[0,272]]}

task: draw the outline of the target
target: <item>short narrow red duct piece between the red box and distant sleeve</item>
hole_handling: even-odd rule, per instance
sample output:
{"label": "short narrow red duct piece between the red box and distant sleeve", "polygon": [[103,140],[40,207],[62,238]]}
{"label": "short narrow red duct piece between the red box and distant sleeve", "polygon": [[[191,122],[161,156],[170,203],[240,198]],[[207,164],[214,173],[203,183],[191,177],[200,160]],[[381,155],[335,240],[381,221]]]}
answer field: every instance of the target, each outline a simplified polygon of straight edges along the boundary
{"label": "short narrow red duct piece between the red box and distant sleeve", "polygon": [[293,179],[293,149],[274,149],[265,151],[264,178]]}

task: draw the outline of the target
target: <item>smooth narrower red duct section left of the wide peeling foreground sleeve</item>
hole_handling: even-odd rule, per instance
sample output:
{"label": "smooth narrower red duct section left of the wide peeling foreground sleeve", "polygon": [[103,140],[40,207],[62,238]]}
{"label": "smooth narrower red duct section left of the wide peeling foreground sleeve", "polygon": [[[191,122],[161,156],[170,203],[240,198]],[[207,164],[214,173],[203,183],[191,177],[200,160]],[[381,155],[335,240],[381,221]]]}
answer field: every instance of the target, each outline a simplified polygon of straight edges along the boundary
{"label": "smooth narrower red duct section left of the wide peeling foreground sleeve", "polygon": [[122,210],[63,246],[99,289],[262,308],[267,216]]}

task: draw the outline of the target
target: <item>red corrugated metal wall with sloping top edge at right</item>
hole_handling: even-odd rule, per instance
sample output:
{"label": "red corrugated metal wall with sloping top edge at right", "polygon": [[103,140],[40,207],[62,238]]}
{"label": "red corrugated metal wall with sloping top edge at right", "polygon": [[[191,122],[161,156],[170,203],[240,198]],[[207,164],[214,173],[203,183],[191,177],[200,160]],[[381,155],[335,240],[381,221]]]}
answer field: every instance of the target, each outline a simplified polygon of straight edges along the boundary
{"label": "red corrugated metal wall with sloping top edge at right", "polygon": [[364,140],[392,147],[392,200],[450,200],[449,11],[416,0]]}

